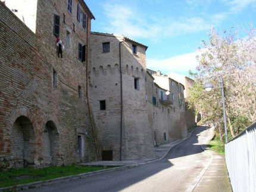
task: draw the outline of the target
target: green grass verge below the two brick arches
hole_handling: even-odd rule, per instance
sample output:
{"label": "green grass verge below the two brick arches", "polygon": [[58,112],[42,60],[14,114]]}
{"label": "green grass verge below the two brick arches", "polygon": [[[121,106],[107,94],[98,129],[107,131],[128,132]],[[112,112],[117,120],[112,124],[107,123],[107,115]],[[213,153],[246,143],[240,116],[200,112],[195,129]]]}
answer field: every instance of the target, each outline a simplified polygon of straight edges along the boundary
{"label": "green grass verge below the two brick arches", "polygon": [[99,171],[101,169],[108,169],[108,167],[49,166],[42,169],[8,169],[6,171],[0,171],[0,187],[10,187],[29,182],[51,180],[58,177]]}

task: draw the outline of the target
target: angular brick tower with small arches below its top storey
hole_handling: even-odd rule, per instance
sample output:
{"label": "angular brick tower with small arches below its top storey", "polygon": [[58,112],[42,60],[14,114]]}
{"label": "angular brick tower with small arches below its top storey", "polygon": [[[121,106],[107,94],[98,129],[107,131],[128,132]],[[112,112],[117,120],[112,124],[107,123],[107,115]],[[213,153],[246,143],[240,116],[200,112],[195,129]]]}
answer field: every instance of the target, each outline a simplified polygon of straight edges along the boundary
{"label": "angular brick tower with small arches below its top storey", "polygon": [[[121,92],[119,42],[123,36],[91,34],[90,99],[97,128],[100,154],[113,150],[113,160],[120,159]],[[110,42],[110,52],[102,53],[102,43]],[[154,143],[146,115],[145,48],[138,45],[132,53],[132,43],[121,43],[121,73],[123,80],[123,140],[122,160],[151,158]],[[135,80],[138,78],[138,89]],[[106,109],[100,110],[99,100]]]}

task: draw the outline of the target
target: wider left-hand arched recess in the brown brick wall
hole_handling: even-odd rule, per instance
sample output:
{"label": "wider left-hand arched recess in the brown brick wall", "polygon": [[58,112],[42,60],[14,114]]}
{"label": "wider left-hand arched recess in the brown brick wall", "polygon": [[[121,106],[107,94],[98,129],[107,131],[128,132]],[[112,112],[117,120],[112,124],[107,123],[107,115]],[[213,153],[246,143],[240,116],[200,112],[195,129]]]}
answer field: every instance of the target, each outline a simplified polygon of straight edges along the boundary
{"label": "wider left-hand arched recess in the brown brick wall", "polygon": [[32,122],[24,115],[18,117],[11,129],[11,156],[13,167],[23,168],[35,165],[35,133]]}

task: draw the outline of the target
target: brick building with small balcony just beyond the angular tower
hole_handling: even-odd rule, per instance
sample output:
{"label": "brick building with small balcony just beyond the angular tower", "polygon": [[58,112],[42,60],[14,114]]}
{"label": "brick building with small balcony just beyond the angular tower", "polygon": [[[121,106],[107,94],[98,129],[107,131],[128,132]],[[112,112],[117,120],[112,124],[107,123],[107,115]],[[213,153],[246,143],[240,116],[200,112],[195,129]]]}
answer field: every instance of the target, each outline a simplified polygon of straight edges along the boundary
{"label": "brick building with small balcony just beyond the angular tower", "polygon": [[[173,83],[171,83],[171,81]],[[150,73],[147,73],[146,96],[148,99],[146,102],[148,117],[149,124],[154,131],[154,140],[157,146],[173,140],[185,138],[188,135],[184,103],[182,103],[182,105],[179,103],[179,97],[184,100],[184,87],[181,85],[181,90],[179,90],[179,85],[181,84],[166,76],[157,75],[155,73],[151,75]],[[164,89],[160,86],[164,87]],[[170,92],[169,97],[171,103],[169,105],[163,105],[160,102],[161,91],[163,92],[164,97],[166,97],[165,93],[167,91]],[[174,99],[172,99],[172,93],[174,94]],[[152,97],[156,97],[156,105],[152,103]],[[166,133],[166,140],[164,139],[164,133]]]}

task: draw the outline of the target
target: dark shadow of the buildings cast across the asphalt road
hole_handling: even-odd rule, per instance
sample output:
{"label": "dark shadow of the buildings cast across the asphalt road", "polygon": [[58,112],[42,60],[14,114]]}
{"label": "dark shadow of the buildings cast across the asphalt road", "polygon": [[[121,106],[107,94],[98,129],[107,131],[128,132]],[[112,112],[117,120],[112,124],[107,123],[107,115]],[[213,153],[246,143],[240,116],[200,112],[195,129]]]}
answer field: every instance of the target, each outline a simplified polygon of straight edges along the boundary
{"label": "dark shadow of the buildings cast across the asphalt road", "polygon": [[[202,149],[199,143],[202,143],[202,141],[205,140],[204,135],[207,134],[202,132],[207,130],[207,128],[208,127],[205,126],[196,128],[189,139],[174,146],[167,154],[166,158],[158,160],[157,162],[135,168],[108,172],[101,175],[93,175],[92,177],[66,182],[61,185],[52,185],[46,188],[41,188],[41,190],[36,189],[35,191],[126,191],[127,187],[138,184],[138,182],[142,182],[143,180],[164,171],[164,169],[173,166],[173,163],[170,162],[171,159],[201,153]],[[201,137],[199,137],[200,135]],[[170,177],[171,173],[168,172],[165,174]],[[160,175],[159,177],[161,178],[163,175]],[[173,175],[173,177],[175,176]],[[184,177],[187,177],[187,175]],[[151,178],[146,182],[154,181]]]}

